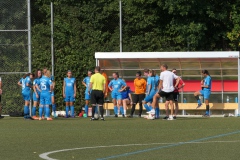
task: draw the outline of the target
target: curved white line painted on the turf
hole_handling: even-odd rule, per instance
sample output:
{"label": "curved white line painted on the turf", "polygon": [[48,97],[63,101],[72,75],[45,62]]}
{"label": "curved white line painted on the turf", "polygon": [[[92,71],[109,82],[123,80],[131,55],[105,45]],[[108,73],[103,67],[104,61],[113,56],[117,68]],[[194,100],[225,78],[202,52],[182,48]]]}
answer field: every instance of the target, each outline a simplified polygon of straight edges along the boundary
{"label": "curved white line painted on the turf", "polygon": [[173,143],[147,143],[147,144],[123,144],[123,145],[109,145],[109,146],[93,146],[93,147],[81,147],[81,148],[70,148],[70,149],[61,149],[56,151],[45,152],[39,155],[40,158],[45,160],[57,160],[50,158],[48,155],[59,152],[74,151],[74,150],[85,150],[85,149],[97,149],[97,148],[110,148],[110,147],[128,147],[128,146],[150,146],[150,145],[159,145],[159,144],[201,144],[201,143],[239,143],[238,141],[208,141],[208,142],[173,142]]}

